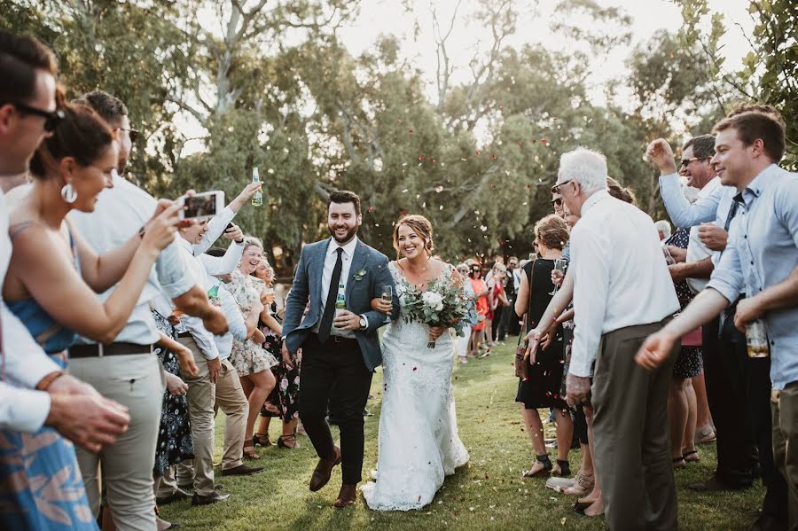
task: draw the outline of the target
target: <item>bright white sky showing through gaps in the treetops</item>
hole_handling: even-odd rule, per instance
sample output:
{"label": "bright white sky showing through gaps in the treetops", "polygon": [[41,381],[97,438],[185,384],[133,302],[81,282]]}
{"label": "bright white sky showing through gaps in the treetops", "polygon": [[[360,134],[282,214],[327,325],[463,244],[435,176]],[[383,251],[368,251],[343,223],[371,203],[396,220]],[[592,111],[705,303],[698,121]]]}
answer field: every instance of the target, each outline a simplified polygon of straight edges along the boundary
{"label": "bright white sky showing through gaps in the treetops", "polygon": [[[660,28],[677,30],[682,24],[682,17],[676,4],[668,0],[595,0],[601,6],[617,6],[627,12],[632,22],[632,43],[630,46],[619,46],[606,54],[601,64],[593,70],[596,72],[591,77],[591,99],[596,104],[605,103],[604,83],[613,79],[622,79],[628,72],[626,60],[637,43],[645,42]],[[363,0],[360,16],[349,21],[346,27],[339,30],[340,39],[346,44],[353,55],[369,50],[376,42],[379,35],[396,35],[403,43],[403,56],[411,59],[424,74],[428,82],[427,93],[431,99],[436,98],[434,87],[435,76],[435,45],[432,19],[429,15],[429,6],[433,4],[439,13],[442,30],[448,28],[450,13],[456,5],[455,0],[415,0],[415,11],[405,12],[400,0]],[[520,47],[524,43],[532,43],[544,48],[561,50],[567,43],[561,37],[554,35],[550,28],[554,8],[559,4],[557,0],[540,0],[535,6],[534,0],[516,0],[513,8],[519,12],[518,29],[505,45]],[[737,69],[740,59],[750,50],[743,35],[743,30],[750,33],[753,26],[747,14],[746,0],[709,0],[712,12],[723,12],[727,33],[724,35],[722,52],[726,57],[724,67]],[[463,0],[459,12],[458,22],[448,41],[448,51],[451,62],[456,66],[453,82],[467,82],[470,80],[468,62],[474,52],[489,51],[491,35],[489,27],[480,27],[468,22],[468,15],[476,7],[474,0]],[[414,24],[419,21],[419,37],[414,39]],[[740,29],[742,27],[742,29]],[[188,137],[201,135],[199,124],[191,117],[182,117],[179,128]],[[201,151],[203,145],[199,141],[192,141],[185,145],[184,155]]]}

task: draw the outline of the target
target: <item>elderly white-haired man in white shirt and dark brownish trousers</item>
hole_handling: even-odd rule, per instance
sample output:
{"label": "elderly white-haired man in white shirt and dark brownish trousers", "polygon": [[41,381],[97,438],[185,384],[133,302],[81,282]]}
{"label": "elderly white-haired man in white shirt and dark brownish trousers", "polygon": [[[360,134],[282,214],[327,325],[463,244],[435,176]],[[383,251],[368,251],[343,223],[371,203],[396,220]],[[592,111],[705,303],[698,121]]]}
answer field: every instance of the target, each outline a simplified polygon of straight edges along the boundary
{"label": "elderly white-haired man in white shirt and dark brownish trousers", "polygon": [[599,152],[578,148],[559,160],[555,188],[582,217],[571,232],[576,327],[567,401],[587,399],[592,372],[595,458],[610,529],[672,530],[677,499],[667,402],[673,362],[648,372],[634,356],[679,302],[652,219],[610,196],[606,173]]}

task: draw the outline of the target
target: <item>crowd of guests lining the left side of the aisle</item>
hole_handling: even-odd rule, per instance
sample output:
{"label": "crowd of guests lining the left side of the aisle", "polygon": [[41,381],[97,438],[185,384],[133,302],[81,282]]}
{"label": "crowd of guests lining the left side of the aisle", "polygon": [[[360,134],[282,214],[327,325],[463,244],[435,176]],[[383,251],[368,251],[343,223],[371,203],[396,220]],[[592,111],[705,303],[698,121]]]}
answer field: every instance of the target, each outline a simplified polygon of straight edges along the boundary
{"label": "crowd of guests lining the left side of the aisle", "polygon": [[121,176],[138,135],[124,103],[66,101],[56,75],[42,43],[0,32],[0,521],[167,529],[156,503],[231,496],[215,482],[217,410],[222,475],[262,470],[243,459],[271,444],[270,418],[296,447],[274,270],[232,223],[261,184],[182,219]]}

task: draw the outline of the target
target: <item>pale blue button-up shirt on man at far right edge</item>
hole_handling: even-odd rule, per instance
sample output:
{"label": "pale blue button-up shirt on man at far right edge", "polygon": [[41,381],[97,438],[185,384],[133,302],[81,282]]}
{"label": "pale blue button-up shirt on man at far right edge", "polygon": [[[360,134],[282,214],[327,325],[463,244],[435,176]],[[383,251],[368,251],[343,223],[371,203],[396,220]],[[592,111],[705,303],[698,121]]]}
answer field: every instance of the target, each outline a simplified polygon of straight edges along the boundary
{"label": "pale blue button-up shirt on man at far right edge", "polygon": [[[743,205],[729,231],[729,245],[707,287],[733,302],[783,282],[798,266],[798,174],[775,164],[742,191]],[[798,307],[768,311],[774,389],[798,381]]]}

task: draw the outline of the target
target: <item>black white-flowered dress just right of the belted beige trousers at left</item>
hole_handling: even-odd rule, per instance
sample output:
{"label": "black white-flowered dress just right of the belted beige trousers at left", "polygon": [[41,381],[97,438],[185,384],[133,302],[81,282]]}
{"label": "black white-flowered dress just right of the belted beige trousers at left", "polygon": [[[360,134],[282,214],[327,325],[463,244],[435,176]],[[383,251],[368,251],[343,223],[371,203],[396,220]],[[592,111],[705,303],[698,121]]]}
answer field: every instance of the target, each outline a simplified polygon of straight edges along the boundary
{"label": "black white-flowered dress just right of the belted beige trousers at left", "polygon": [[[172,325],[155,310],[153,317],[158,330],[174,339],[176,334]],[[180,376],[180,363],[177,363],[175,353],[164,347],[158,347],[155,352],[164,371]],[[162,476],[169,466],[193,458],[194,444],[188,417],[188,400],[185,396],[175,396],[167,390],[163,394],[158,445],[155,447],[155,475]]]}

